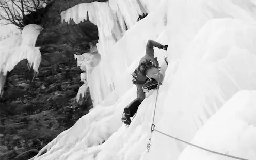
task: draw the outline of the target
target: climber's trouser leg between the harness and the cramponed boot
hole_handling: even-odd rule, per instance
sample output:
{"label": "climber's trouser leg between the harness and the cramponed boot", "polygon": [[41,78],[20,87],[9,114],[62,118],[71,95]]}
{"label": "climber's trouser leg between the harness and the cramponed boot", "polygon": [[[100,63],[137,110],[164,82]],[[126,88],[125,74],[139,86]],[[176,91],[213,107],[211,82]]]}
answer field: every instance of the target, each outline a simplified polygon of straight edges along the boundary
{"label": "climber's trouser leg between the harness and the cramponed boot", "polygon": [[124,108],[124,113],[130,113],[131,117],[133,117],[136,114],[139,105],[141,104],[141,102],[146,97],[145,93],[142,91],[142,86],[143,85],[144,84],[136,84],[136,86],[137,86],[137,98],[135,100],[133,100],[129,105],[127,105]]}

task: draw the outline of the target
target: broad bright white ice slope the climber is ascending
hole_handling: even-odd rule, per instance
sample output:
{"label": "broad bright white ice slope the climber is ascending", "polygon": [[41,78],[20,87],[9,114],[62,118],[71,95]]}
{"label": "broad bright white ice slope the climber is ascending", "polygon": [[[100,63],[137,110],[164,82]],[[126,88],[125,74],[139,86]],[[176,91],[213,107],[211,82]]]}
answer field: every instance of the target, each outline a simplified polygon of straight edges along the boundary
{"label": "broad bright white ice slope the climber is ascending", "polygon": [[[121,5],[121,1],[114,0],[105,4],[111,6],[116,4],[114,2]],[[141,103],[130,127],[122,126],[123,108],[136,97],[131,73],[145,54],[148,39],[169,45],[167,52],[155,49],[155,56],[159,59],[162,72],[165,72],[156,105],[156,129],[222,153],[242,158],[254,157],[255,139],[251,135],[255,127],[248,124],[250,118],[256,115],[253,111],[251,115],[246,115],[246,110],[256,106],[253,103],[249,106],[251,108],[243,105],[243,97],[249,91],[239,93],[229,103],[226,102],[240,90],[256,89],[255,1],[136,2],[142,6],[153,4],[154,7],[148,11],[149,15],[145,19],[131,26],[122,38],[110,45],[109,50],[103,53],[103,46],[110,43],[101,41],[99,44],[102,59],[88,79],[94,108],[71,129],[62,132],[45,146],[34,159],[175,160],[180,156],[183,160],[191,159],[193,155],[197,159],[230,159],[187,147],[158,132],[152,133],[150,151],[147,152],[156,91]],[[97,7],[99,4],[94,2],[90,5]],[[86,5],[83,4],[83,7]],[[81,13],[76,11],[77,8],[71,8],[62,16],[79,20]],[[131,18],[129,14],[123,17]],[[108,26],[106,23],[104,25]],[[99,26],[104,28],[103,25]],[[107,29],[113,28],[105,29],[100,29],[100,38],[109,33]],[[169,57],[168,67],[163,61],[166,55]],[[250,94],[253,97],[255,93]],[[225,104],[226,107],[218,112]],[[245,110],[243,117],[232,116],[237,108]],[[216,126],[217,131],[212,132],[213,123],[218,124],[219,119],[223,121],[225,114],[227,121]],[[243,118],[249,119],[242,124]],[[228,125],[236,122],[241,125]],[[222,127],[224,125],[227,127]],[[251,138],[251,143],[247,143],[249,139],[232,141],[232,136]],[[230,144],[224,147],[223,139],[227,139]],[[244,151],[245,148],[248,151]]]}

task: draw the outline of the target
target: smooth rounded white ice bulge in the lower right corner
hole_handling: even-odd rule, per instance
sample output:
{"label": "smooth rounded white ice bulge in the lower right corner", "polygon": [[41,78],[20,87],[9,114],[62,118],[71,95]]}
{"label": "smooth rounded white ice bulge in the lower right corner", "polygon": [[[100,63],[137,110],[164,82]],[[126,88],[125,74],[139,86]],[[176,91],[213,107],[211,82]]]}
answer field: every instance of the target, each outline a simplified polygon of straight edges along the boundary
{"label": "smooth rounded white ice bulge in the lower right corner", "polygon": [[[197,132],[191,143],[227,155],[256,157],[256,91],[236,93]],[[232,159],[188,146],[178,160]]]}

